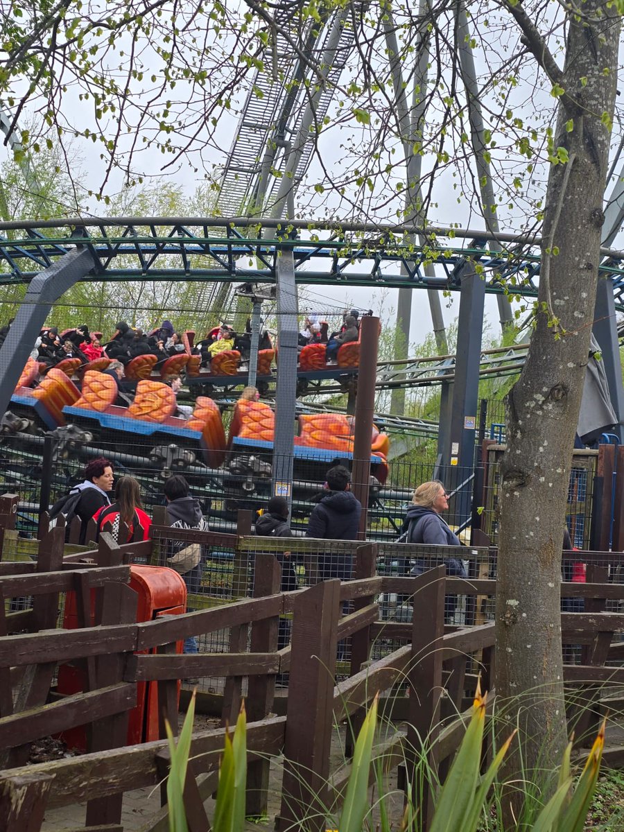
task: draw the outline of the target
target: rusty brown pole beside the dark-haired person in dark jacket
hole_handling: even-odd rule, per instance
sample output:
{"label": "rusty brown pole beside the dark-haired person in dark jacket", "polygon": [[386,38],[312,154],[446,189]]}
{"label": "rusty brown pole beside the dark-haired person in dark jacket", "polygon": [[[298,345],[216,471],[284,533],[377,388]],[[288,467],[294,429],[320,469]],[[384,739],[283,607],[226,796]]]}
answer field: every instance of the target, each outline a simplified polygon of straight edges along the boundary
{"label": "rusty brown pole beside the dark-haired person in dark jacket", "polygon": [[362,503],[359,539],[366,539],[369,513],[370,440],[373,435],[375,409],[375,372],[379,346],[379,318],[364,315],[360,324],[358,398],[355,402],[353,448],[353,493]]}

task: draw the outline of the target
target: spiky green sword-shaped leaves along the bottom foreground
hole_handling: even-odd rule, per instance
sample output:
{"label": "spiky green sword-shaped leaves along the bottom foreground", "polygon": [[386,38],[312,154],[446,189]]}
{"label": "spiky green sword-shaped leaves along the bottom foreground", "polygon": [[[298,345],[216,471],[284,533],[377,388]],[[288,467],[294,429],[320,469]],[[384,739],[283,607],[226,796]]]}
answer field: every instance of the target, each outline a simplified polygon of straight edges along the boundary
{"label": "spiky green sword-shaped leaves along the bottom foreground", "polygon": [[[374,735],[377,727],[378,696],[364,719],[355,744],[351,775],[344,795],[343,809],[338,824],[339,832],[362,832],[370,815],[369,799],[370,766],[374,764]],[[486,719],[487,694],[479,690],[474,698],[468,727],[459,746],[448,777],[438,796],[430,832],[476,832],[494,800],[493,784],[498,770],[513,741],[513,735],[498,750],[485,774],[481,774],[483,732]],[[195,694],[186,713],[180,738],[176,744],[170,726],[167,737],[171,749],[171,771],[167,781],[169,800],[169,832],[188,832],[184,810],[183,792],[186,779],[191,731],[195,714]],[[515,733],[515,732],[514,732]],[[587,763],[576,788],[572,789],[570,755],[572,742],[563,755],[557,790],[542,807],[534,821],[532,832],[582,832],[587,811],[592,802],[604,747],[605,724],[602,724]],[[213,829],[215,832],[242,832],[245,827],[245,785],[247,769],[245,707],[240,709],[234,737],[225,733],[225,749],[220,764]],[[378,783],[381,783],[378,777]],[[417,832],[422,826],[419,807],[411,795],[400,823],[400,832]],[[389,820],[384,794],[379,796],[380,832],[390,832],[394,827]]]}

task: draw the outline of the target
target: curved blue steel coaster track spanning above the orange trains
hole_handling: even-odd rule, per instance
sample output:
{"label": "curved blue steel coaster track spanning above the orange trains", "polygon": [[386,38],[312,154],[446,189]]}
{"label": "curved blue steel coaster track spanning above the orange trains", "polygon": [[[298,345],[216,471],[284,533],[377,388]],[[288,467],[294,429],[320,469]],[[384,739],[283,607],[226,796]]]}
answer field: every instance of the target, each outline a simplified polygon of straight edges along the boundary
{"label": "curved blue steel coaster track spanning above the orange trains", "polygon": [[[97,267],[85,280],[191,280],[275,283],[280,252],[292,250],[300,284],[458,290],[456,273],[468,258],[483,270],[489,293],[534,297],[540,270],[536,237],[435,230],[423,248],[404,244],[406,226],[323,225],[247,218],[98,218],[0,224],[0,285],[27,283],[62,255],[87,248]],[[375,233],[373,233],[375,232]],[[428,229],[431,233],[431,229]],[[326,236],[327,239],[320,239]],[[507,237],[508,240],[504,240]],[[624,311],[624,255],[604,250],[601,274],[612,280]],[[424,274],[433,263],[436,275]],[[405,274],[400,273],[404,266]]]}

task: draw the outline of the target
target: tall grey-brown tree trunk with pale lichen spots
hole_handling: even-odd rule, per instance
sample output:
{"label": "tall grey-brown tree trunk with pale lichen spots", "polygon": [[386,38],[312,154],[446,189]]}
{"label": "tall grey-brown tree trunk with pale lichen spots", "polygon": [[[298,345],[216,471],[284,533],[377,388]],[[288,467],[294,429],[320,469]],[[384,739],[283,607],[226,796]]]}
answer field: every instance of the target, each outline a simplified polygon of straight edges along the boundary
{"label": "tall grey-brown tree trunk with pale lichen spots", "polygon": [[[519,722],[524,774],[532,776],[557,766],[567,739],[562,537],[596,297],[620,21],[602,2],[584,2],[582,19],[568,19],[561,72],[522,6],[510,11],[560,96],[551,154],[561,163],[548,181],[537,325],[508,396],[500,488],[496,689],[510,723]],[[518,755],[510,763],[517,766]]]}

